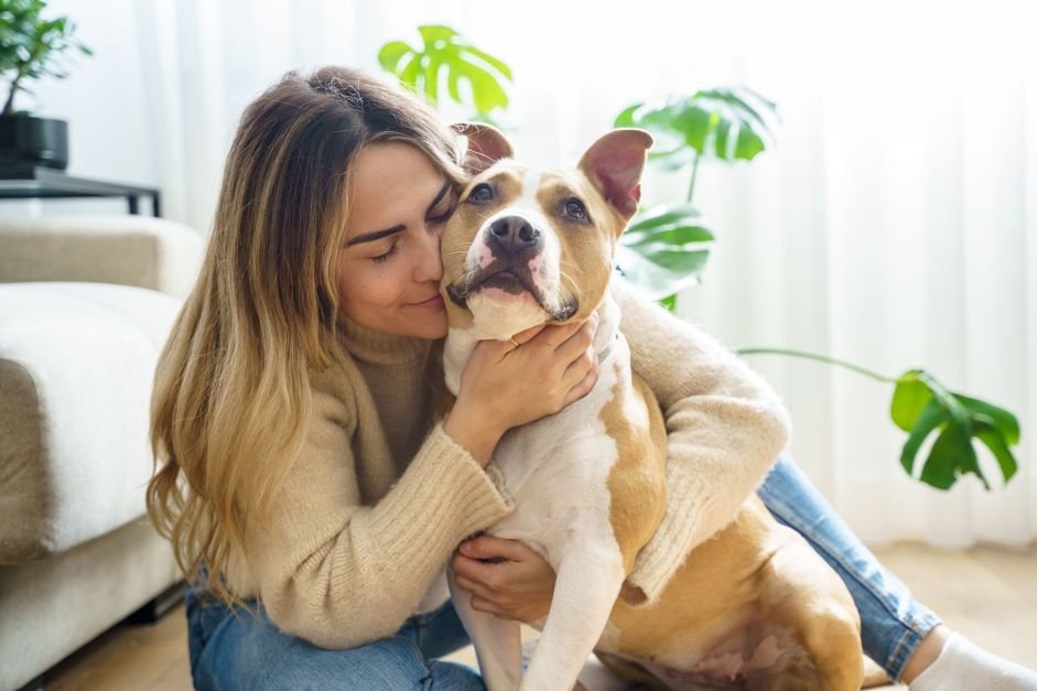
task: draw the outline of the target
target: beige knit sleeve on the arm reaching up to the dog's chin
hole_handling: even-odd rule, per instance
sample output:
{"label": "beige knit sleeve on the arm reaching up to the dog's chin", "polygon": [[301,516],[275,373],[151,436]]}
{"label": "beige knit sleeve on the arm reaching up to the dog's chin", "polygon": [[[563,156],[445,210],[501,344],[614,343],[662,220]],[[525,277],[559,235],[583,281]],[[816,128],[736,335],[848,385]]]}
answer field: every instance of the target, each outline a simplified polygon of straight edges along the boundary
{"label": "beige knit sleeve on the arm reaching up to the dog's chin", "polygon": [[246,559],[270,618],[324,648],[396,633],[466,537],[512,508],[494,466],[484,471],[441,424],[374,506],[361,505],[350,451],[356,415],[313,388],[305,444]]}

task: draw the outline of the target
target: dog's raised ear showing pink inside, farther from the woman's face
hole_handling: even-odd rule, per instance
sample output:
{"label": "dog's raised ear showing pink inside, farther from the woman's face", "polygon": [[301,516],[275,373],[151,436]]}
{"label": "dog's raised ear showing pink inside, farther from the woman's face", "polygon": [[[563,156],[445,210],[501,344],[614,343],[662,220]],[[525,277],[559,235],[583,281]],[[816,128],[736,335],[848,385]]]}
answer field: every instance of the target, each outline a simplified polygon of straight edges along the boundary
{"label": "dog's raised ear showing pink inside, farther from the woman's face", "polygon": [[651,134],[645,130],[613,130],[591,144],[580,159],[580,170],[624,218],[637,210],[641,171],[651,143]]}

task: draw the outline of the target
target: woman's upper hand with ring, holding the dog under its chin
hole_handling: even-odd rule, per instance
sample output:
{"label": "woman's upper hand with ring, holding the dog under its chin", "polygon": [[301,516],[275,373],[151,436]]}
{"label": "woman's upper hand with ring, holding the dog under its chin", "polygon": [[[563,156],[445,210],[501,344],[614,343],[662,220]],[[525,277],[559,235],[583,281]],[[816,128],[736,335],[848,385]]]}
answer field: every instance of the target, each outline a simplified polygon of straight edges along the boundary
{"label": "woman's upper hand with ring, holding the dog under its chin", "polygon": [[510,341],[483,341],[461,374],[443,429],[484,466],[505,432],[558,412],[597,381],[594,333],[584,322],[534,326]]}

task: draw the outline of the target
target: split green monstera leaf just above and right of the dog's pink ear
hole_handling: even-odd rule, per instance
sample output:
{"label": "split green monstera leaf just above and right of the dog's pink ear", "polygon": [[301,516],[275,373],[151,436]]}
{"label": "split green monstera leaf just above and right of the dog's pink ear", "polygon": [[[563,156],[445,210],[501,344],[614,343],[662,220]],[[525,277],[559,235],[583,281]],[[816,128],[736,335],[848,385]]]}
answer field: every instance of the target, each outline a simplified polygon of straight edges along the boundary
{"label": "split green monstera leaf just above and right of the dog's pink ear", "polygon": [[649,160],[676,170],[698,156],[752,161],[774,141],[776,120],[774,102],[731,87],[635,104],[616,117],[615,126],[651,132],[656,145]]}

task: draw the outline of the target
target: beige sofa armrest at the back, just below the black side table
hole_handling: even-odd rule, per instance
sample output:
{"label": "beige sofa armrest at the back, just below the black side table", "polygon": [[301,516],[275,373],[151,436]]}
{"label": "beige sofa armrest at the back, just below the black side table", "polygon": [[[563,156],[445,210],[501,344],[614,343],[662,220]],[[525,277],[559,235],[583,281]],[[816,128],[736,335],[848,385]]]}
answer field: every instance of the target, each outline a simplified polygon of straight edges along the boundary
{"label": "beige sofa armrest at the back, just below the black side table", "polygon": [[192,228],[149,216],[4,218],[0,283],[117,283],[182,298],[194,284],[202,250]]}

